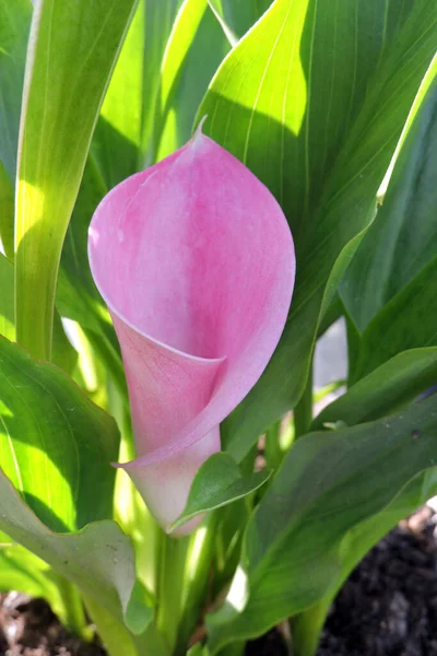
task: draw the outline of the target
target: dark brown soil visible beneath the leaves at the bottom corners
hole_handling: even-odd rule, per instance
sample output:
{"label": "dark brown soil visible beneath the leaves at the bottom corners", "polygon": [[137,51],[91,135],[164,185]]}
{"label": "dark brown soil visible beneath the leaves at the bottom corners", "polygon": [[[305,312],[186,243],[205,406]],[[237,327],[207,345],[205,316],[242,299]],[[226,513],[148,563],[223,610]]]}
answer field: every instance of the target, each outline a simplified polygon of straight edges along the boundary
{"label": "dark brown soil visible beneath the leaves at the bottom corners", "polygon": [[[436,525],[423,508],[371,550],[338,595],[317,656],[437,656]],[[287,642],[282,626],[245,654],[287,656]],[[69,634],[45,601],[0,595],[0,656],[105,654]]]}

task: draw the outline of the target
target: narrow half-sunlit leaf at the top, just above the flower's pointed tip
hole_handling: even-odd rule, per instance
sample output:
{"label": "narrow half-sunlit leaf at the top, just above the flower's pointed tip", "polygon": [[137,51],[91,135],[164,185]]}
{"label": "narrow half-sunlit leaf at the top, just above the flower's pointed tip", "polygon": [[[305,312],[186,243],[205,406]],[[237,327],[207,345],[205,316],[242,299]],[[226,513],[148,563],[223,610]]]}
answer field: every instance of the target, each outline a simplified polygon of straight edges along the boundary
{"label": "narrow half-sunlit leaf at the top, just above the flower's pointed tip", "polygon": [[228,50],[208,0],[185,0],[162,65],[154,160],[166,157],[191,137],[199,104]]}

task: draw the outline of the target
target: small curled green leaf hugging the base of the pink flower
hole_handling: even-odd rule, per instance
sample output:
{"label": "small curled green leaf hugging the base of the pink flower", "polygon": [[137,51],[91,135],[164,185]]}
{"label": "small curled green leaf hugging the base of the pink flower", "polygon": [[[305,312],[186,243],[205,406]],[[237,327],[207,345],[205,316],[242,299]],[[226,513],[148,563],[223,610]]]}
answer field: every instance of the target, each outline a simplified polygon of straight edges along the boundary
{"label": "small curled green leaf hugging the base of the pink flower", "polygon": [[212,455],[199,469],[191,483],[187,504],[177,519],[167,528],[172,532],[197,515],[228,505],[251,494],[263,485],[272,471],[257,471],[241,476],[238,465],[227,454]]}

